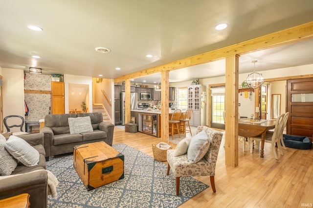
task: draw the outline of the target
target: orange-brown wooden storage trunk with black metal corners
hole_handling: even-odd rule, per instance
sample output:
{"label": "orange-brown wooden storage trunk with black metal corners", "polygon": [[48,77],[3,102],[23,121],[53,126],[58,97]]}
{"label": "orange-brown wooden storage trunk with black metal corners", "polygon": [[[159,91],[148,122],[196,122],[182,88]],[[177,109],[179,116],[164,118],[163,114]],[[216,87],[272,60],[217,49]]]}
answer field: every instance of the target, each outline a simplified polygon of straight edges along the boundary
{"label": "orange-brown wooden storage trunk with black metal corners", "polygon": [[107,143],[74,147],[73,165],[87,190],[124,178],[124,155]]}

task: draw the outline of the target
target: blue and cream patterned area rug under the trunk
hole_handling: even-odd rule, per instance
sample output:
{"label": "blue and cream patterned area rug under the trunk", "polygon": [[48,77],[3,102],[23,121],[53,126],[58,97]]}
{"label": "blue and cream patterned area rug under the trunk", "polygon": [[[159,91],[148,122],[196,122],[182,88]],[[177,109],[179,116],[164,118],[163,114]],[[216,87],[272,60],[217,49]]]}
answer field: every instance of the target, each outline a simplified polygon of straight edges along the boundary
{"label": "blue and cream patterned area rug under the trunk", "polygon": [[124,179],[87,191],[73,167],[73,155],[51,158],[46,162],[59,180],[58,197],[48,196],[49,208],[176,208],[208,185],[193,177],[176,178],[167,165],[125,144],[113,145],[125,156]]}

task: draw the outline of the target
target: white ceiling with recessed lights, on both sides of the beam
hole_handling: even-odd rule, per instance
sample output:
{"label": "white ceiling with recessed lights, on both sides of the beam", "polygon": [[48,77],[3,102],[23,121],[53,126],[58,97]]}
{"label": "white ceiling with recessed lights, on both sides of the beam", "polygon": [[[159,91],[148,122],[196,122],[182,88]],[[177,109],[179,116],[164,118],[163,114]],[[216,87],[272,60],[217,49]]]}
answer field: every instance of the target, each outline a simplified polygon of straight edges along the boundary
{"label": "white ceiling with recessed lights, on both sides of the beam", "polygon": [[[116,78],[313,21],[312,0],[0,0],[0,67]],[[214,27],[228,24],[223,31]],[[36,25],[44,30],[29,30]],[[107,47],[110,53],[95,51]],[[41,56],[33,65],[32,54]],[[147,58],[147,54],[154,57]],[[240,57],[239,73],[313,64],[313,40]],[[224,60],[171,71],[223,76]],[[121,70],[115,70],[120,67]],[[158,82],[160,75],[134,82]],[[187,78],[185,78],[187,77]]]}

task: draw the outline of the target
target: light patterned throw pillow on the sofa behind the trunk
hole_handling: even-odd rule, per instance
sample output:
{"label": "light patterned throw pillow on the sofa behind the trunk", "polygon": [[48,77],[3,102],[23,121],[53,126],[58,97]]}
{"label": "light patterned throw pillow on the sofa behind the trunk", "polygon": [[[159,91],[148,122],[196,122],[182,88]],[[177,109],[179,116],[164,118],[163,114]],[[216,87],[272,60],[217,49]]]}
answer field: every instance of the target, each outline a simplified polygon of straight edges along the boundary
{"label": "light patterned throw pillow on the sofa behind the trunk", "polygon": [[90,116],[68,118],[70,134],[93,132]]}

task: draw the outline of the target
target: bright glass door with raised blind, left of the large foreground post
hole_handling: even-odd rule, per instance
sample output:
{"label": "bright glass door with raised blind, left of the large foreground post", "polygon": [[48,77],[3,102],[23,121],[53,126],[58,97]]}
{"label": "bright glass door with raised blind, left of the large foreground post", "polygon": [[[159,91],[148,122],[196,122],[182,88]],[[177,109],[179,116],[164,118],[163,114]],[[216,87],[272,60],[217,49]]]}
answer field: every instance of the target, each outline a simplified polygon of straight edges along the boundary
{"label": "bright glass door with raised blind, left of the large foreground post", "polygon": [[224,127],[225,86],[211,87],[211,127]]}

